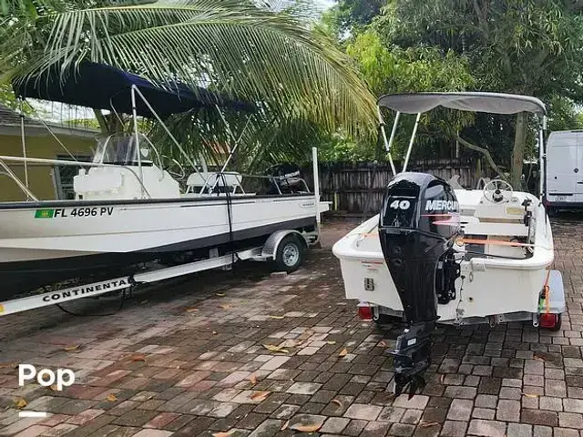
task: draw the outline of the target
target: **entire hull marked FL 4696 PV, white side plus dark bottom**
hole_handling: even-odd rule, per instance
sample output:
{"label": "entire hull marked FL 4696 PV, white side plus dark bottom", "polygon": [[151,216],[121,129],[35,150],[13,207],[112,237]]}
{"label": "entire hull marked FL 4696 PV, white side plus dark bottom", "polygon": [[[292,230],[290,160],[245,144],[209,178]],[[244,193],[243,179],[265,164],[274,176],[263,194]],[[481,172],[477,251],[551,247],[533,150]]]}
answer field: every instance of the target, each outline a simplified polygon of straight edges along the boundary
{"label": "entire hull marked FL 4696 PV, white side plus dark bottom", "polygon": [[179,253],[240,248],[278,229],[313,230],[315,213],[313,195],[4,204],[0,300]]}

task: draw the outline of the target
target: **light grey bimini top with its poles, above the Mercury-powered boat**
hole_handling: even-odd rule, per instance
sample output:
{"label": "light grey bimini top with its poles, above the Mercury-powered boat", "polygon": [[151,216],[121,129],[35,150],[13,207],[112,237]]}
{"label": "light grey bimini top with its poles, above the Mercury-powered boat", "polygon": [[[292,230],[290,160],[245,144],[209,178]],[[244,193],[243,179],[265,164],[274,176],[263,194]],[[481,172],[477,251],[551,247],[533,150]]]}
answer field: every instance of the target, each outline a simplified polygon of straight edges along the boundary
{"label": "light grey bimini top with its poles, above the Mercury-powered boat", "polygon": [[[378,99],[378,117],[381,131],[384,138],[384,146],[389,155],[391,168],[396,174],[393,159],[391,158],[391,146],[394,141],[394,134],[401,113],[416,114],[413,134],[409,141],[409,147],[404,160],[403,171],[406,171],[414,137],[419,125],[419,119],[424,112],[435,109],[435,107],[448,107],[461,111],[486,112],[490,114],[517,114],[519,112],[530,112],[539,118],[538,128],[538,159],[539,159],[539,194],[542,198],[544,190],[544,161],[547,153],[544,145],[544,130],[547,128],[547,108],[537,97],[521,96],[517,94],[503,93],[483,93],[483,92],[457,92],[457,93],[412,93],[412,94],[387,94]],[[396,111],[393,130],[390,139],[387,140],[384,131],[384,120],[381,115],[381,107],[387,107]]]}

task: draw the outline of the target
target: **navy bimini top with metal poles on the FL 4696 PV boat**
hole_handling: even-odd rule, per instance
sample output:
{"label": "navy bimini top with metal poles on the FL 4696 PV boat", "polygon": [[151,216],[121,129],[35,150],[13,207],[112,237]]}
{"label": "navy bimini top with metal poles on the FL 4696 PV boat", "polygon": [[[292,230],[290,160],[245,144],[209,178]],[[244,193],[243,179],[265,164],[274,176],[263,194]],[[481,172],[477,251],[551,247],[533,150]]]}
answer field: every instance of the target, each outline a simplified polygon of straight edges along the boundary
{"label": "navy bimini top with metal poles on the FL 4696 PV boat", "polygon": [[[15,91],[15,96],[20,99],[21,102],[24,101],[26,97],[32,97],[81,107],[107,109],[113,111],[116,116],[118,116],[119,113],[131,114],[133,119],[133,135],[136,137],[138,150],[138,116],[157,119],[160,126],[164,128],[172,142],[179,148],[180,153],[187,161],[189,161],[189,164],[197,173],[199,173],[199,169],[180,146],[178,140],[172,135],[162,119],[191,109],[198,109],[201,107],[216,108],[219,111],[223,122],[225,122],[230,137],[232,137],[235,142],[234,147],[230,150],[229,157],[221,169],[222,173],[227,167],[230,158],[232,158],[233,153],[239,146],[242,133],[239,138],[234,137],[220,109],[230,108],[248,113],[257,110],[257,107],[250,102],[233,100],[204,87],[186,86],[185,84],[176,81],[151,81],[114,66],[97,64],[90,61],[82,61],[78,65],[66,67],[58,65],[51,66],[37,76],[17,78],[13,81],[12,85]],[[250,119],[251,115],[247,120],[247,124],[249,124]],[[30,191],[27,189],[28,172],[26,163],[29,161],[32,162],[32,160],[26,158],[24,119],[21,125],[23,157],[25,157],[22,159],[25,165],[26,175],[25,192],[27,198],[34,199],[34,196],[31,197]],[[245,128],[246,127],[247,125],[245,125]],[[54,137],[60,143],[58,138],[56,136]],[[148,143],[153,147],[149,141]],[[66,149],[62,143],[60,144]],[[8,159],[10,157],[3,158]],[[201,162],[201,164],[206,172],[206,164],[204,162]],[[97,163],[83,165],[86,165],[87,167],[102,166]],[[139,153],[138,168],[138,179],[142,188],[142,196],[148,195],[148,193],[145,192],[143,185],[141,157]]]}

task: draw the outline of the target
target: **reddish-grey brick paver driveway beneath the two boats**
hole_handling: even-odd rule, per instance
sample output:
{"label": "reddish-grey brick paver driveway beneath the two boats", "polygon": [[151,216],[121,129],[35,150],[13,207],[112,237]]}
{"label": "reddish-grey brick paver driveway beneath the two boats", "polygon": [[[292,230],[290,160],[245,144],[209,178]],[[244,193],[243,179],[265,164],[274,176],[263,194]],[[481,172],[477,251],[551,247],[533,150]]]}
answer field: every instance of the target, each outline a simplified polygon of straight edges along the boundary
{"label": "reddish-grey brick paver driveway beneath the two boats", "polygon": [[[429,382],[411,401],[386,391],[384,350],[399,330],[358,320],[343,299],[329,248],[352,226],[326,225],[324,249],[288,277],[254,264],[236,278],[220,271],[141,291],[109,316],[50,307],[1,319],[0,434],[579,435],[582,217],[554,227],[568,294],[563,330],[442,329]],[[66,308],[111,311],[117,302]],[[23,362],[75,369],[77,381],[65,391],[18,388]],[[19,420],[18,402],[52,415]]]}

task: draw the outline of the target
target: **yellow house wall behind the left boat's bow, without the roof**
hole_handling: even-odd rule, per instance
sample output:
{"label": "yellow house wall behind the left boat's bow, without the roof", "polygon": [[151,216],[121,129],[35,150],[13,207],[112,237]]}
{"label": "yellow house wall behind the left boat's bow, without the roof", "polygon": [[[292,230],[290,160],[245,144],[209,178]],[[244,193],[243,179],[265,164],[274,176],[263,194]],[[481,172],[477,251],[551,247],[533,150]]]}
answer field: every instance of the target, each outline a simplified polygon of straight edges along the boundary
{"label": "yellow house wall behind the left boat's bow, without the roof", "polygon": [[[91,155],[96,145],[92,137],[57,136],[59,140],[73,155]],[[27,158],[55,159],[57,155],[64,155],[66,151],[49,136],[26,136]],[[0,155],[22,157],[21,137],[17,135],[0,134]],[[8,163],[10,169],[23,182],[25,181],[25,169],[20,163]],[[52,176],[52,167],[46,165],[28,164],[29,188],[39,200],[51,200],[56,198],[56,188]],[[0,168],[0,201],[26,200],[26,195],[18,188],[14,180],[3,174]]]}

